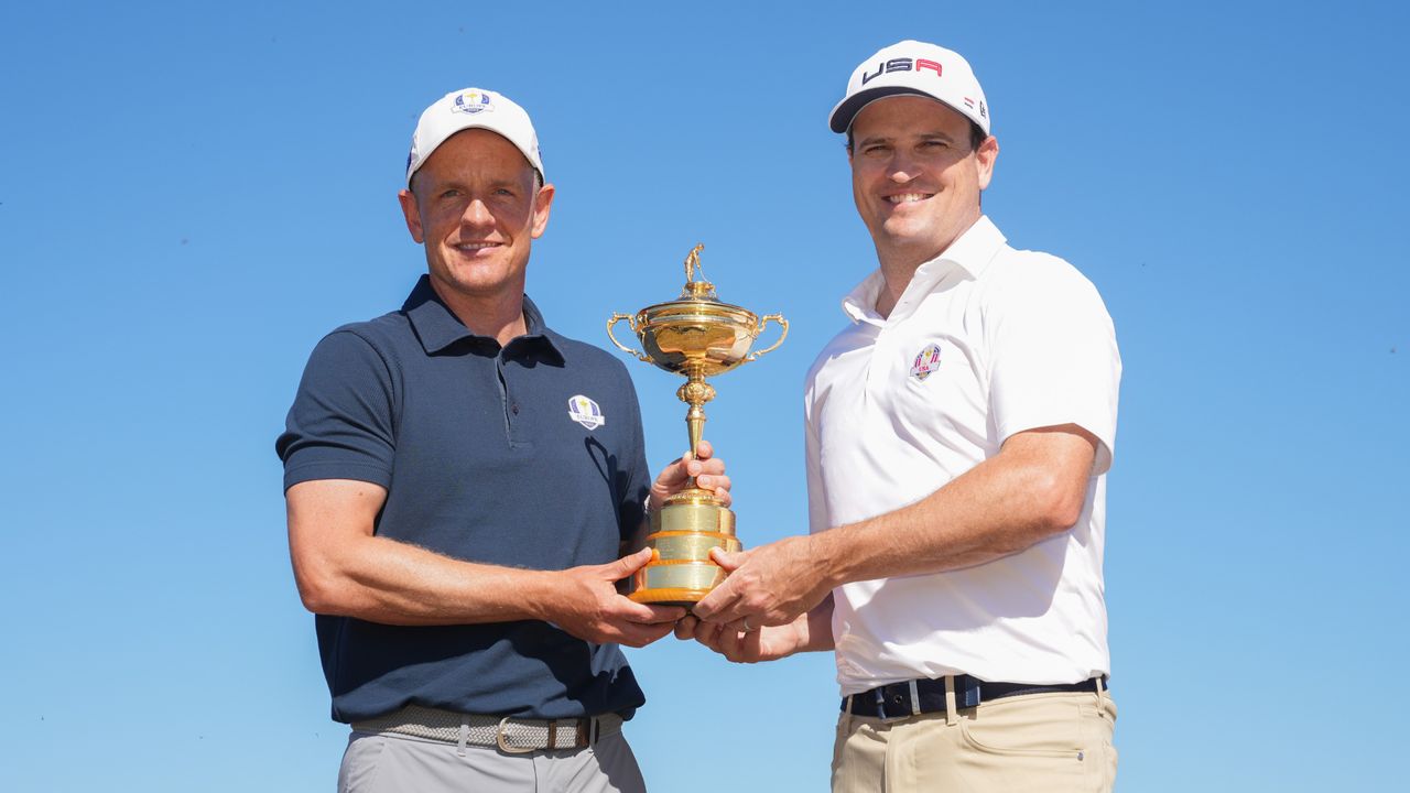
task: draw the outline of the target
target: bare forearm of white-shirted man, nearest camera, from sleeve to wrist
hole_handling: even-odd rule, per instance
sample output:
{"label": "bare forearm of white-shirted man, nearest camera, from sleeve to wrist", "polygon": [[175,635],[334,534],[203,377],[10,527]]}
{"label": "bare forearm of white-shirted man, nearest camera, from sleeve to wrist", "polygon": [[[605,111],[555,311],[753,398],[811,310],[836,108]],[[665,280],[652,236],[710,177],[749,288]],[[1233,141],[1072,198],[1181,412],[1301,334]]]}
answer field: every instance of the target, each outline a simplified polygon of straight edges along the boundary
{"label": "bare forearm of white-shirted man, nearest camera, from sleeve to wrist", "polygon": [[1091,468],[1086,440],[1055,463],[1046,446],[1018,444],[926,498],[812,535],[819,570],[833,584],[938,573],[1018,553],[1077,521]]}

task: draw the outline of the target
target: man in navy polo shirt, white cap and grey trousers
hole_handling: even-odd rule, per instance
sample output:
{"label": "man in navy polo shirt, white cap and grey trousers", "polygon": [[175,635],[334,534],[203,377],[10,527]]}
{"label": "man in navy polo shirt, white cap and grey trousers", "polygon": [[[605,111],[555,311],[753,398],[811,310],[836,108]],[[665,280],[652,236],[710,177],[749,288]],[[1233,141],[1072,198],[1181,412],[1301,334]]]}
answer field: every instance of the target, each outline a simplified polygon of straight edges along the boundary
{"label": "man in navy polo shirt, white cap and grey trousers", "polygon": [[305,370],[288,430],[289,546],[317,618],[333,718],[352,725],[338,789],[643,790],[620,735],[644,697],[618,645],[680,608],[616,584],[650,484],[636,392],[606,353],[523,293],[554,188],[527,113],[450,93],[412,140],[406,227],[429,274],[400,310],[340,327]]}

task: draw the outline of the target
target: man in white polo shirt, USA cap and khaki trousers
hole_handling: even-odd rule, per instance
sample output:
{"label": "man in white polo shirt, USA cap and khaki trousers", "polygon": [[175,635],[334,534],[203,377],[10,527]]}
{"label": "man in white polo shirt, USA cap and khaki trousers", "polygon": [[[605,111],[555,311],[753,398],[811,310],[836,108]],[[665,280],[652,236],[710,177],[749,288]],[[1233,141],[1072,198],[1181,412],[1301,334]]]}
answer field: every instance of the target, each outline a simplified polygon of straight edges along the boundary
{"label": "man in white polo shirt, USA cap and khaki trousers", "polygon": [[833,790],[1110,790],[1101,557],[1121,358],[1096,288],[980,209],[970,65],[916,41],[852,75],[878,270],[807,384],[812,533],[716,560],[677,628],[735,660],[836,649]]}

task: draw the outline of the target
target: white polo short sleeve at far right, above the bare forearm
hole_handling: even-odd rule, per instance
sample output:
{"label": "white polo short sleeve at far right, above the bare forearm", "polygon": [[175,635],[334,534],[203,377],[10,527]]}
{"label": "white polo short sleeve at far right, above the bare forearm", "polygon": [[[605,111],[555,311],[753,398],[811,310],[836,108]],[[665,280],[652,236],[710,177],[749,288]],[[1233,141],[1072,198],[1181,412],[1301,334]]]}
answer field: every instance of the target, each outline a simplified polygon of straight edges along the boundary
{"label": "white polo short sleeve at far right, above the bare forearm", "polygon": [[1101,295],[1070,264],[1029,254],[986,306],[990,402],[1000,442],[1074,423],[1101,446],[1093,474],[1111,468],[1121,354]]}

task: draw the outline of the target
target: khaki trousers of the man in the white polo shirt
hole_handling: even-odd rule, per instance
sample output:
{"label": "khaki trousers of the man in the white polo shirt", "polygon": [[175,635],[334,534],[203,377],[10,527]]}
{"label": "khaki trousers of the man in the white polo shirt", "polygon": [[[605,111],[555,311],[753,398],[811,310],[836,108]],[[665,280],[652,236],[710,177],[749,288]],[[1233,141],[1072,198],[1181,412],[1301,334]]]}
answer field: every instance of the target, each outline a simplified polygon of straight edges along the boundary
{"label": "khaki trousers of the man in the white polo shirt", "polygon": [[838,720],[833,793],[1110,793],[1117,777],[1111,694],[1005,697],[883,721]]}

